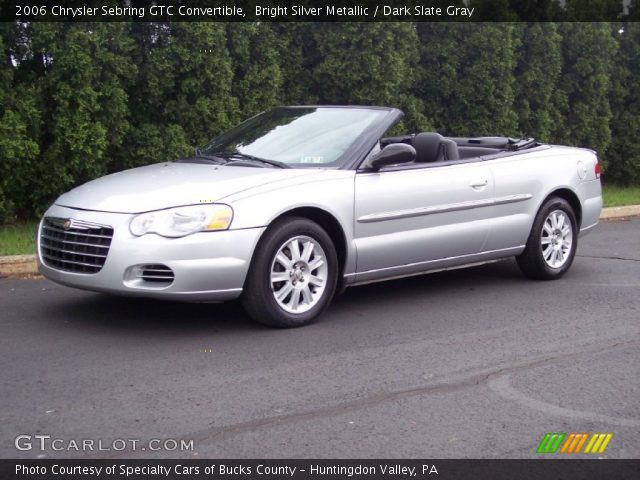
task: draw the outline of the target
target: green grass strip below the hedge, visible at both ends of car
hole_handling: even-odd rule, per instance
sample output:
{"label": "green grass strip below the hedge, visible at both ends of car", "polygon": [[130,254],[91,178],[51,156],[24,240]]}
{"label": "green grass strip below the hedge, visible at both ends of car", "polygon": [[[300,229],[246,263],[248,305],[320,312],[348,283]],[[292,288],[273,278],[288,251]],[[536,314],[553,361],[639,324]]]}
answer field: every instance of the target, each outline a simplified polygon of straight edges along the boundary
{"label": "green grass strip below the hedge, visible at both ends of car", "polygon": [[[614,185],[605,185],[603,190],[605,207],[640,205],[640,186],[616,187]],[[37,220],[28,220],[11,225],[0,225],[0,256],[35,253],[37,223]]]}

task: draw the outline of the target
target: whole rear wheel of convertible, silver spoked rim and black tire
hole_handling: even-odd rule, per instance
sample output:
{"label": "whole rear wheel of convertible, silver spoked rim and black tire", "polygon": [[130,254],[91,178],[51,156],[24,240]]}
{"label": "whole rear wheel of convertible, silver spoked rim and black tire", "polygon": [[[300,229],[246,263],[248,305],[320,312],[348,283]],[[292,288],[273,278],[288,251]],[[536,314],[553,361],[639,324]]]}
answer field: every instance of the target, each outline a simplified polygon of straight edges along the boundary
{"label": "whole rear wheel of convertible, silver spoked rim and black tire", "polygon": [[578,226],[569,202],[547,200],[538,211],[518,266],[529,278],[553,280],[564,275],[575,257]]}

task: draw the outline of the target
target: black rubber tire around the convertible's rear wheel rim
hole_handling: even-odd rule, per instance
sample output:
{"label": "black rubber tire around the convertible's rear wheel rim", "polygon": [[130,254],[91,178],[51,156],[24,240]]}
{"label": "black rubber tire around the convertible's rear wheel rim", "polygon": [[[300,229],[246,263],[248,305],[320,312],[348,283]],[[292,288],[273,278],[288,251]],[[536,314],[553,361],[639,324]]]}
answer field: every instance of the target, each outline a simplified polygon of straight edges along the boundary
{"label": "black rubber tire around the convertible's rear wheel rim", "polygon": [[[545,260],[545,252],[548,253],[549,251],[543,249],[543,240],[545,242],[559,242],[560,245],[562,245],[564,237],[562,237],[560,233],[561,229],[551,227],[552,219],[550,216],[555,212],[564,214],[564,221],[566,222],[568,219],[571,228],[571,246],[567,249],[566,253],[562,254],[563,263],[558,264],[556,267],[552,265],[553,257]],[[543,230],[547,220],[549,221],[547,228],[551,228],[554,233]],[[536,215],[524,252],[516,257],[522,273],[535,280],[555,280],[560,278],[569,270],[569,267],[571,267],[573,263],[578,247],[578,233],[576,215],[571,205],[569,205],[569,202],[560,197],[549,198],[542,207],[540,207]],[[556,235],[558,236],[556,237]],[[548,246],[553,247],[553,244],[549,243]],[[559,248],[562,249],[561,246]],[[551,252],[551,255],[553,255],[553,252]],[[560,260],[558,260],[558,262],[560,262]]]}

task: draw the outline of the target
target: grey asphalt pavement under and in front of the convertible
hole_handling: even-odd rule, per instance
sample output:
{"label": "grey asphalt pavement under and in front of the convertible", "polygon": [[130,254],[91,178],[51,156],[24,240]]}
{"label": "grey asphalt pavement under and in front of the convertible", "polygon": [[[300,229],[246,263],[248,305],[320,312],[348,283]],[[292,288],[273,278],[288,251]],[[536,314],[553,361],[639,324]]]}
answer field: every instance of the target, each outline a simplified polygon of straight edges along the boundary
{"label": "grey asphalt pavement under and in front of the convertible", "polygon": [[640,458],[639,239],[602,223],[554,282],[507,260],[351,288],[295,330],[0,280],[0,457],[534,458],[611,432],[595,456]]}

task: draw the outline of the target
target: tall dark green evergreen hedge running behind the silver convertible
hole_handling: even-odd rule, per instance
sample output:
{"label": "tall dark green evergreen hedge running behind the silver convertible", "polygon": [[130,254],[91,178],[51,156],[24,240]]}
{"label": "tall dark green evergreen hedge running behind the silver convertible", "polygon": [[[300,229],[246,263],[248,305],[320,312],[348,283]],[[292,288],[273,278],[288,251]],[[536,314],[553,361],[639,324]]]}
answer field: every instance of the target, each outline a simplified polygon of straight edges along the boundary
{"label": "tall dark green evergreen hedge running behind the silver convertible", "polygon": [[590,147],[606,181],[640,184],[640,23],[505,20],[2,23],[0,223],[279,104],[397,106],[406,131]]}

